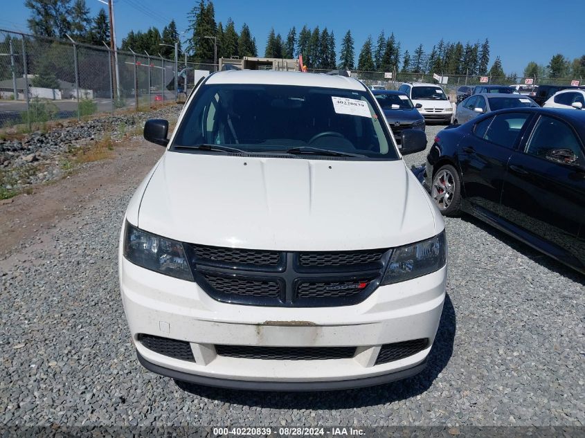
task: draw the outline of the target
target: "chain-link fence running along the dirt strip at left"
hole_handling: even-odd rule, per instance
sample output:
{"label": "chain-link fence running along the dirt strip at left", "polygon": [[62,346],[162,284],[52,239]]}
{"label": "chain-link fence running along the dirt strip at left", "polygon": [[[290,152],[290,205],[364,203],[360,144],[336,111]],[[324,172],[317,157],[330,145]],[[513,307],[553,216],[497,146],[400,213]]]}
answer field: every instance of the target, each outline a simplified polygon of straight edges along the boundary
{"label": "chain-link fence running along the dirt strip at left", "polygon": [[[111,51],[0,29],[0,129],[143,111],[185,99],[213,63]],[[178,71],[178,72],[177,72]]]}

